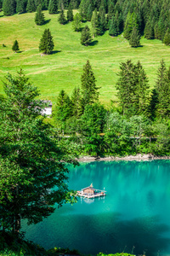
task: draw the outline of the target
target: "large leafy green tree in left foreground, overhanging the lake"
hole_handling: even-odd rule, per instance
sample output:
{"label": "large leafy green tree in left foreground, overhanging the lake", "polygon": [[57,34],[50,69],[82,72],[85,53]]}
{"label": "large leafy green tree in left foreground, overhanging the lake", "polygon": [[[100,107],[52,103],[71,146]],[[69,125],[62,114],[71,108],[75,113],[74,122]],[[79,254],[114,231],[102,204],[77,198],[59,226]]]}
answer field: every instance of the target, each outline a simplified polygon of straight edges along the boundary
{"label": "large leafy green tree in left foreground, overhanging the lake", "polygon": [[[65,181],[70,157],[44,124],[44,102],[37,100],[22,70],[8,73],[0,104],[0,229],[20,231],[21,219],[37,224],[74,196]],[[62,160],[62,161],[61,161]],[[74,201],[74,199],[73,199]]]}

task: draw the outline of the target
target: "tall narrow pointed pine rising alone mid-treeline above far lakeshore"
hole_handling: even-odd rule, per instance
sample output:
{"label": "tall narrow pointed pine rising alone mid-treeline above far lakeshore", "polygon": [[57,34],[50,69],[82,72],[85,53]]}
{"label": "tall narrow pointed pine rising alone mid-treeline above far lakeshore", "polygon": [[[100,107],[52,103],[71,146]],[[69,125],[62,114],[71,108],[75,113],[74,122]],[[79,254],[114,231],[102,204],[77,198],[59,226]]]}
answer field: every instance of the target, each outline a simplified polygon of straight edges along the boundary
{"label": "tall narrow pointed pine rising alone mid-treeline above far lakeshore", "polygon": [[84,109],[87,104],[92,104],[99,100],[99,87],[96,86],[96,79],[89,61],[83,67],[81,81],[82,109]]}

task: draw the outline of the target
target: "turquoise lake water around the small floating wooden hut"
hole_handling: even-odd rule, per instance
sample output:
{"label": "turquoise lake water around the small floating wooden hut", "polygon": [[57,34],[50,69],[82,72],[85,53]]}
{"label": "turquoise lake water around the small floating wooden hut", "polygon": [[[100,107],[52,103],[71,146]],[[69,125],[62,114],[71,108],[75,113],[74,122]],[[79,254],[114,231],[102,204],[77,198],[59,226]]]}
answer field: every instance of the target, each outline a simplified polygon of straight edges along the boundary
{"label": "turquoise lake water around the small floating wooden hut", "polygon": [[71,189],[93,183],[107,195],[79,199],[42,223],[24,225],[26,238],[47,249],[170,255],[170,160],[101,161],[69,169]]}

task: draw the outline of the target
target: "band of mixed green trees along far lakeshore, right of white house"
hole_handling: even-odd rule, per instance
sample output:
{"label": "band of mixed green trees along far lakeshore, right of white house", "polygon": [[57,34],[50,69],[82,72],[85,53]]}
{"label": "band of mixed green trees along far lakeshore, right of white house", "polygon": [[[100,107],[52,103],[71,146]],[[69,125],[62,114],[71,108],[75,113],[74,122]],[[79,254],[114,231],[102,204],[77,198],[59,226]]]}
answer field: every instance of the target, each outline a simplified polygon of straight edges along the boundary
{"label": "band of mixed green trees along far lakeshore, right of white house", "polygon": [[89,61],[82,85],[69,97],[61,90],[54,113],[56,138],[77,155],[170,154],[170,68],[162,60],[150,91],[144,68],[128,60],[120,65],[117,102],[99,102]]}

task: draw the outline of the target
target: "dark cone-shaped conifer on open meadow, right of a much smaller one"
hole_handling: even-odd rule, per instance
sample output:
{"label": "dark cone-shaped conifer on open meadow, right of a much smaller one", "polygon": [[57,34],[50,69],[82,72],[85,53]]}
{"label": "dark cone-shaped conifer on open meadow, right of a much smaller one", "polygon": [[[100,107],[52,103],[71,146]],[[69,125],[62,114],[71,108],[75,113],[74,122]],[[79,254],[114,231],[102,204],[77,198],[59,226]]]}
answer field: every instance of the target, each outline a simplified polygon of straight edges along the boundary
{"label": "dark cone-shaped conifer on open meadow, right of a much smaller one", "polygon": [[39,44],[39,51],[42,51],[44,54],[49,55],[54,49],[54,41],[51,36],[51,32],[46,28],[42,34],[42,38]]}

